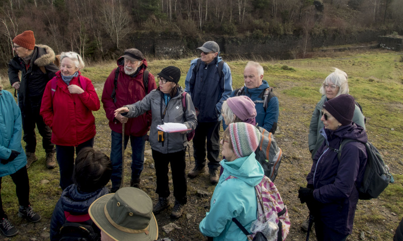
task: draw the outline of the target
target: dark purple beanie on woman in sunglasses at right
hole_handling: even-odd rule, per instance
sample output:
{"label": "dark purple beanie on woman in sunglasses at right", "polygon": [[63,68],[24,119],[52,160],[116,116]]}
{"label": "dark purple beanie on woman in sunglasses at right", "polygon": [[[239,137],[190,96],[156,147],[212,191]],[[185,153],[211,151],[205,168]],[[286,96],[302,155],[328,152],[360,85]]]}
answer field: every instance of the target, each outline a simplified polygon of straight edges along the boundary
{"label": "dark purple beanie on woman in sunglasses at right", "polygon": [[356,106],[353,96],[341,94],[324,102],[323,108],[333,115],[340,124],[346,126],[353,121]]}

